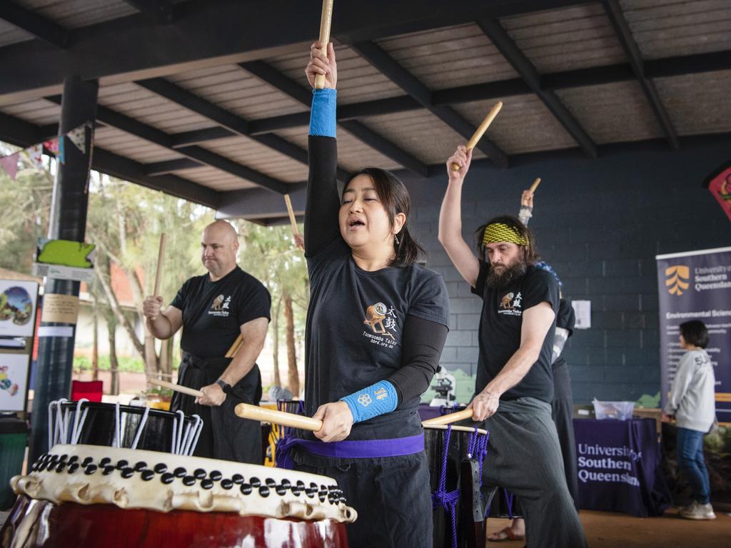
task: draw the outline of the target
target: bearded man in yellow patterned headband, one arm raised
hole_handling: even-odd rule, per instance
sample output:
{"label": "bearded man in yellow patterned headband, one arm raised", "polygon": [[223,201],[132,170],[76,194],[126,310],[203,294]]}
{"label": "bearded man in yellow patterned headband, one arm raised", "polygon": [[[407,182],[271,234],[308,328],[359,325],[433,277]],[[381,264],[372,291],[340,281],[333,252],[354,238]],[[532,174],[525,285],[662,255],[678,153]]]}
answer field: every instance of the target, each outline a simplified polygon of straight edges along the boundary
{"label": "bearded man in yellow patterned headband, one arm raised", "polygon": [[[518,495],[529,548],[583,548],[586,538],[551,419],[558,283],[534,266],[533,237],[515,217],[496,217],[477,229],[480,258],[474,256],[462,237],[461,221],[462,185],[471,157],[471,150],[461,146],[447,160],[439,242],[472,292],[482,297],[480,357],[469,404],[473,420],[485,421],[490,431],[482,481]],[[452,171],[452,164],[460,169]]]}

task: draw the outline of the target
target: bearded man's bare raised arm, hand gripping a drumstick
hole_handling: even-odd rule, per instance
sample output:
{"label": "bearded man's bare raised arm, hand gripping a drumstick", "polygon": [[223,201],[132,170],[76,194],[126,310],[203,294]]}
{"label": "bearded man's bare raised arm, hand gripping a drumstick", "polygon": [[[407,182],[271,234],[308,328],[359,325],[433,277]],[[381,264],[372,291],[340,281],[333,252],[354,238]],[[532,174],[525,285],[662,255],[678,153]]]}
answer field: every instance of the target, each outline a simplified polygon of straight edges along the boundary
{"label": "bearded man's bare raised arm, hand gripping a drumstick", "polygon": [[[444,246],[462,278],[472,287],[477,283],[480,274],[480,261],[472,253],[469,244],[462,237],[462,184],[469,170],[472,151],[459,146],[457,151],[447,160],[447,192],[444,193],[442,209],[439,211],[439,243]],[[452,164],[460,169],[452,171]]]}

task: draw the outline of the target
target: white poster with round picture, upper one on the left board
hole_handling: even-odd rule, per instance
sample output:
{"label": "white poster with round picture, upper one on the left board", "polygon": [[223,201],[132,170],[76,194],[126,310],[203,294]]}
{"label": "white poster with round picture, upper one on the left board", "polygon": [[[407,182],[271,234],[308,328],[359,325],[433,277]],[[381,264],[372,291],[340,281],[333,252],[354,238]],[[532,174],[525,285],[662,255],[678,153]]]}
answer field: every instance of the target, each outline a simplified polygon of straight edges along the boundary
{"label": "white poster with round picture, upper one on the left board", "polygon": [[0,337],[32,337],[38,283],[0,280]]}

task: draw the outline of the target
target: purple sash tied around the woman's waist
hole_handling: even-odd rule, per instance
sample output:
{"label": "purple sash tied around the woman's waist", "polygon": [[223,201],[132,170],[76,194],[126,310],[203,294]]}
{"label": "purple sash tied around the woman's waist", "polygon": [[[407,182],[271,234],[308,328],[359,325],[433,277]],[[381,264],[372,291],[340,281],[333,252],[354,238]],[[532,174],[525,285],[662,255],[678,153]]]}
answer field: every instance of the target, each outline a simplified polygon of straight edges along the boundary
{"label": "purple sash tied around the woman's waist", "polygon": [[379,457],[401,457],[406,454],[419,453],[424,450],[424,435],[411,435],[407,438],[387,440],[343,440],[310,441],[285,436],[276,446],[277,468],[294,468],[294,461],[289,452],[292,447],[300,446],[308,453],[319,457],[336,457],[341,459],[374,459]]}

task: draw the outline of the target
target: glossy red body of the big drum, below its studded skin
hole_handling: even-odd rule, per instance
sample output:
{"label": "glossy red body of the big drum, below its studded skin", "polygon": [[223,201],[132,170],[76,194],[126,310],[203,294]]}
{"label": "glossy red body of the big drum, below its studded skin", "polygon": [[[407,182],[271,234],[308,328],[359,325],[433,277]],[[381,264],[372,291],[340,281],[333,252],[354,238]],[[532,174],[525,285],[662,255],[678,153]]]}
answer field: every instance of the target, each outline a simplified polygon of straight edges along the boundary
{"label": "glossy red body of the big drum, below its studded skin", "polygon": [[3,548],[347,547],[333,520],[276,520],[227,512],[120,509],[110,504],[18,497],[0,534]]}

